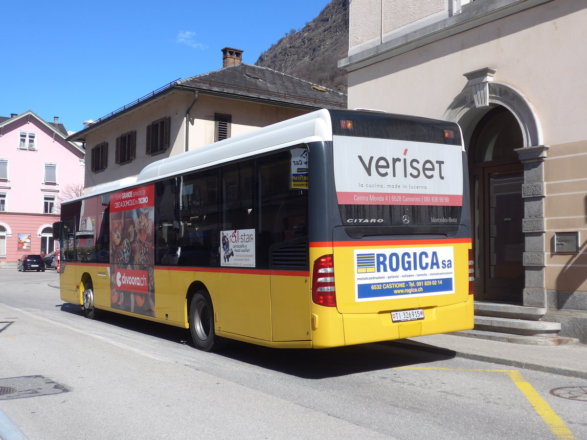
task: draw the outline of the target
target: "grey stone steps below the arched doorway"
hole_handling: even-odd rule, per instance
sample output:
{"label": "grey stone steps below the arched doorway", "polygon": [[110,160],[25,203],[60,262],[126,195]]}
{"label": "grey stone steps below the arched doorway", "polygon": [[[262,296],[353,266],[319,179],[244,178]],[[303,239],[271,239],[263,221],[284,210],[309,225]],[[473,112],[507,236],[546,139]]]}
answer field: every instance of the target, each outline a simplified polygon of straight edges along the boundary
{"label": "grey stone steps below the arched doorway", "polygon": [[542,320],[547,311],[544,307],[479,301],[474,307],[475,328],[459,331],[460,336],[542,346],[579,343],[576,338],[558,336],[560,323]]}

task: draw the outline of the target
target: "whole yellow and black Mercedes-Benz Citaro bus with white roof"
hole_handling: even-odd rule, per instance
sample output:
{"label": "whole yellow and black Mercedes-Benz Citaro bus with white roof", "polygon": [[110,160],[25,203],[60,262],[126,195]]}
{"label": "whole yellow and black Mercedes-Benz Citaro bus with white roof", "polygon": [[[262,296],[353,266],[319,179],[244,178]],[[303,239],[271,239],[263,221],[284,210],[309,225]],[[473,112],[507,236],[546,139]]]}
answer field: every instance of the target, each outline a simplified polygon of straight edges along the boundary
{"label": "whole yellow and black Mercedes-Benz Citaro bus with white roof", "polygon": [[60,295],[225,339],[326,348],[473,328],[460,128],[318,110],[65,202]]}

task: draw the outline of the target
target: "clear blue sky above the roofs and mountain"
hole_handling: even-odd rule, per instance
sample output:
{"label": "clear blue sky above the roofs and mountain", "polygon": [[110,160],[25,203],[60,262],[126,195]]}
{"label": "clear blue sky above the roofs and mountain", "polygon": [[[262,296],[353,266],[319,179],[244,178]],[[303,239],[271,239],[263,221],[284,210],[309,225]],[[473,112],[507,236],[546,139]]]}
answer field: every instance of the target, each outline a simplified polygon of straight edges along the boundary
{"label": "clear blue sky above the roofs and mountain", "polygon": [[259,55],[329,0],[6,1],[0,116],[32,110],[79,131],[152,90],[222,67],[225,47]]}

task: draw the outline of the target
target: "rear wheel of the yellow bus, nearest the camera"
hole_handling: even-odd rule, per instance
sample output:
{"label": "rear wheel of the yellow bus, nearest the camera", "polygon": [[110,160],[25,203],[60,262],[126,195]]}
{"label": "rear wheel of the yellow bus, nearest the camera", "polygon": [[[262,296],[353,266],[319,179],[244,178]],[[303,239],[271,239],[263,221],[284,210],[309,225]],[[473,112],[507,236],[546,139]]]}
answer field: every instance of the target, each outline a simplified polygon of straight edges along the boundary
{"label": "rear wheel of the yellow bus, nearest the camera", "polygon": [[205,290],[198,290],[191,299],[190,333],[195,347],[202,351],[217,351],[222,338],[214,332],[214,308]]}

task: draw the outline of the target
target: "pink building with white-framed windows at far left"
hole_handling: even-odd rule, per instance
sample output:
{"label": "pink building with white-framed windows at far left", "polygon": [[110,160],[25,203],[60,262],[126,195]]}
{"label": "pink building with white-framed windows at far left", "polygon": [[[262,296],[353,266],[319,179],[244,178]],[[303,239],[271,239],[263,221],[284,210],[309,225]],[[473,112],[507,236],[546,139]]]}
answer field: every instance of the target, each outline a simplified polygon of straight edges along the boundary
{"label": "pink building with white-framed windows at far left", "polygon": [[53,251],[60,201],[83,191],[85,150],[67,136],[57,117],[0,116],[0,266]]}

